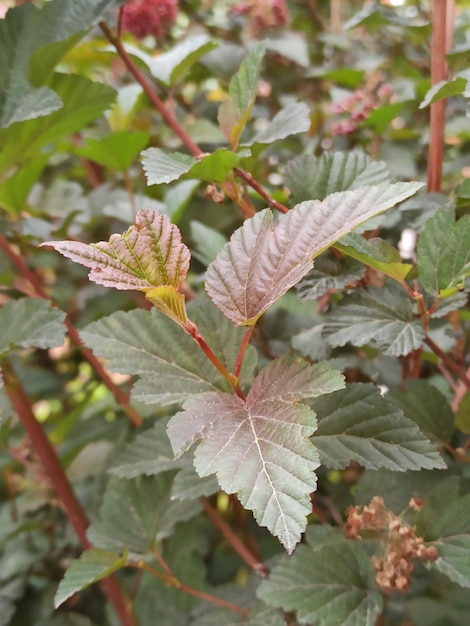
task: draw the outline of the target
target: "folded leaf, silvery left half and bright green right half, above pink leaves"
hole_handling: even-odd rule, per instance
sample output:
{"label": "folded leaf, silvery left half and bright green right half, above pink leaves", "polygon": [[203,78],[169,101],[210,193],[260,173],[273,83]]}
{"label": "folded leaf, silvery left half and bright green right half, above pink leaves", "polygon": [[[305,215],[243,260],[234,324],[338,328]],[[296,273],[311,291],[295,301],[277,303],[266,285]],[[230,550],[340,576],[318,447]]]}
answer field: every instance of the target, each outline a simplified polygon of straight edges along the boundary
{"label": "folded leaf, silvery left half and bright green right half, above pink leaves", "polygon": [[236,154],[226,148],[219,148],[212,154],[195,158],[181,152],[166,154],[159,148],[148,148],[142,152],[142,156],[147,185],[159,185],[188,178],[220,183],[246,153]]}

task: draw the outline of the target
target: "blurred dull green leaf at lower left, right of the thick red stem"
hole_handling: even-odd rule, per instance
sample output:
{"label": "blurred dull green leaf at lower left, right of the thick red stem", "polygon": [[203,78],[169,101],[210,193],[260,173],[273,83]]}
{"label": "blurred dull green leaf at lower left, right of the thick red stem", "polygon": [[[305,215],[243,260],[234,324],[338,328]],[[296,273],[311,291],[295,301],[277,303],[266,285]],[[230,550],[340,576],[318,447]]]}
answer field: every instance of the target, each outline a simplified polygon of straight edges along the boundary
{"label": "blurred dull green leaf at lower left, right of the thick red stem", "polygon": [[201,510],[198,500],[172,500],[172,475],[168,472],[134,480],[112,480],[100,508],[100,521],[88,530],[98,548],[122,551],[130,558],[151,553],[169,537],[175,524]]}

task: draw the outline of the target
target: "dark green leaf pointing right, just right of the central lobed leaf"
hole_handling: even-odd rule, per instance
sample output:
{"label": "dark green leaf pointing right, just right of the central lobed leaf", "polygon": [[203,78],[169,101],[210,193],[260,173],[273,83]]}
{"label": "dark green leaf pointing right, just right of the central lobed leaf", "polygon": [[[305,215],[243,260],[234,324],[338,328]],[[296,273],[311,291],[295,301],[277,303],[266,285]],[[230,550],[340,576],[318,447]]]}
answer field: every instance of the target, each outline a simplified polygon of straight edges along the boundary
{"label": "dark green leaf pointing right, just right of the central lobed leaf", "polygon": [[368,469],[445,469],[418,427],[372,384],[352,384],[312,402],[318,430],[312,437],[323,465],[342,469],[356,461]]}

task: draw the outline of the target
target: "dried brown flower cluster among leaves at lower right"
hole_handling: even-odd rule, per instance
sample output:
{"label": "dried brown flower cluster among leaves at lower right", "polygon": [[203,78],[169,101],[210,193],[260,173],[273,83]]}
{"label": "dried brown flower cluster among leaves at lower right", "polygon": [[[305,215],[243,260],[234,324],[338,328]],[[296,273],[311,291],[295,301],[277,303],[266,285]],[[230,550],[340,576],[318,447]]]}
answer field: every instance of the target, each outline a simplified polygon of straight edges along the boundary
{"label": "dried brown flower cluster among leaves at lower right", "polygon": [[[416,498],[410,501],[414,510],[421,506]],[[378,496],[368,506],[349,507],[346,515],[348,537],[360,539],[362,533],[374,532],[385,543],[382,557],[372,557],[377,572],[375,582],[384,591],[407,591],[414,570],[413,561],[435,561],[439,556],[434,546],[425,546],[423,538],[416,536],[414,526],[389,511]]]}

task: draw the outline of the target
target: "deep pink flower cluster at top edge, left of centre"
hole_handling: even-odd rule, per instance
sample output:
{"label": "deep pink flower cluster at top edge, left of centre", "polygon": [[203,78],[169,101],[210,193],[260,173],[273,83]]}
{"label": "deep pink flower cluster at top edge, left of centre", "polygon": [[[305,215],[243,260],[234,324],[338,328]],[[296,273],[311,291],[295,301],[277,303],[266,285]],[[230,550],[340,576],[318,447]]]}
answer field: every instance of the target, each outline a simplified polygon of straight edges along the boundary
{"label": "deep pink flower cluster at top edge, left of centre", "polygon": [[129,0],[122,9],[122,30],[142,39],[163,37],[178,14],[178,0]]}

